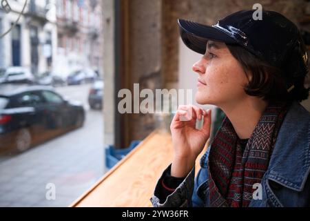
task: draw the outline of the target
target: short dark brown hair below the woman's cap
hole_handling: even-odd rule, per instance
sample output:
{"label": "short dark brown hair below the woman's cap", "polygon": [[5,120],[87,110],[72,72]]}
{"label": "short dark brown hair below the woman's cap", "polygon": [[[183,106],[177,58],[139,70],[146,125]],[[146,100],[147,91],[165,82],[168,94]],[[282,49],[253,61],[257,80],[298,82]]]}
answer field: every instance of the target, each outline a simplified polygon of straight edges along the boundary
{"label": "short dark brown hair below the woman's cap", "polygon": [[309,97],[309,89],[304,87],[305,77],[299,77],[294,81],[294,88],[290,92],[287,91],[284,74],[280,68],[273,67],[265,61],[258,59],[241,46],[227,44],[227,48],[241,64],[249,78],[251,72],[251,80],[245,86],[247,95],[261,97],[267,102],[271,101],[293,101],[302,102]]}

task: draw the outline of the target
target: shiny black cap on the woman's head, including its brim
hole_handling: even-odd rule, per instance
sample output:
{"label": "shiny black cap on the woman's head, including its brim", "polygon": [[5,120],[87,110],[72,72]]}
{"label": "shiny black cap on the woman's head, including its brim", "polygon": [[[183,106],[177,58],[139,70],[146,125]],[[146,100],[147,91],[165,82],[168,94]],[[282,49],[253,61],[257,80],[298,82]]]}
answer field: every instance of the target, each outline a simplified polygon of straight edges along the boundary
{"label": "shiny black cap on the woman's head, including its brim", "polygon": [[297,26],[278,12],[262,11],[262,19],[253,18],[255,10],[242,10],[205,26],[178,19],[184,44],[205,54],[207,41],[238,44],[271,66],[283,70],[287,88],[308,73],[307,48]]}

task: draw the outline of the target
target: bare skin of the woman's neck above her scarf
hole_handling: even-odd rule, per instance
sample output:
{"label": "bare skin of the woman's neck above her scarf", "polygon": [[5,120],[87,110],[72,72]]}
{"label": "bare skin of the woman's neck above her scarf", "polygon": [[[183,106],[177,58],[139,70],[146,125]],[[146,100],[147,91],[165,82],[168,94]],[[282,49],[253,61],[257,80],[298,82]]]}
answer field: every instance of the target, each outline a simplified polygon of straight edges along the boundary
{"label": "bare skin of the woman's neck above her scarf", "polygon": [[254,132],[267,105],[267,102],[260,98],[249,97],[238,103],[225,104],[220,106],[220,108],[227,115],[232,126],[234,126],[238,137],[240,139],[247,139]]}

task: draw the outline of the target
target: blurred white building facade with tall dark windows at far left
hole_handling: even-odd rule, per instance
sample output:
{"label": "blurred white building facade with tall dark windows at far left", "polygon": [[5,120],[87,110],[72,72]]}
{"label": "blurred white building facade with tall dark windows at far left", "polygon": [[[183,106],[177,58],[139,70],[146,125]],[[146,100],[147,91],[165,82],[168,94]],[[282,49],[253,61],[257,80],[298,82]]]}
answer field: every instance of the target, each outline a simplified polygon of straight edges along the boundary
{"label": "blurred white building facade with tall dark windows at far left", "polygon": [[57,52],[55,0],[6,3],[10,10],[0,10],[0,67],[23,66],[34,75],[51,70]]}

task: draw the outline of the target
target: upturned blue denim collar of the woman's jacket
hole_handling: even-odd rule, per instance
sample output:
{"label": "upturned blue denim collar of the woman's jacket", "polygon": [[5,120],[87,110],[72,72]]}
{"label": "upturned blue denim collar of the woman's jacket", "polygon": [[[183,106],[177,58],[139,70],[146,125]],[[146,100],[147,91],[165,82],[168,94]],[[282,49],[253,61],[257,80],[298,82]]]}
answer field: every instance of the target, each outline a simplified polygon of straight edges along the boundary
{"label": "upturned blue denim collar of the woman's jacket", "polygon": [[310,114],[293,102],[282,122],[273,149],[267,178],[302,191],[310,171]]}

